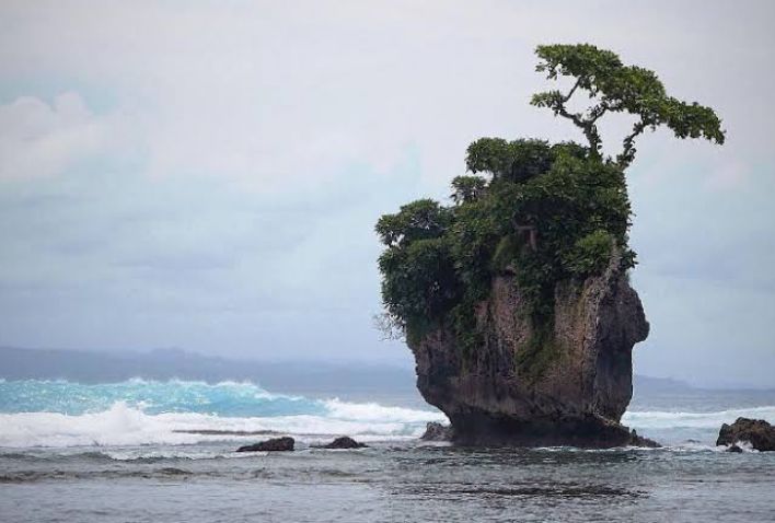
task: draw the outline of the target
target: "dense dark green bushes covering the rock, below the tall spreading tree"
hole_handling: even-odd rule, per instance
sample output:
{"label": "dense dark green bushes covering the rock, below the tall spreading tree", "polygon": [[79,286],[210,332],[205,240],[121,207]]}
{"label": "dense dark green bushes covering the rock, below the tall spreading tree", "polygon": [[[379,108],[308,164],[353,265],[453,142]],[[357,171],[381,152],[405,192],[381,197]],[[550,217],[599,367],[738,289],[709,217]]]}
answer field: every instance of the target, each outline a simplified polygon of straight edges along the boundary
{"label": "dense dark green bushes covering the rock, below the tall spreading tree", "polygon": [[[449,322],[461,345],[481,342],[473,310],[504,271],[516,275],[527,303],[522,313],[536,325],[551,323],[558,281],[599,272],[614,245],[626,251],[631,210],[616,165],[587,158],[572,143],[507,144],[509,161],[532,159],[520,164],[529,177],[459,177],[453,188],[473,186],[476,197],[454,198],[450,207],[418,200],[378,222],[386,247],[380,257],[383,301],[407,335]],[[536,248],[523,226],[534,229]],[[595,243],[601,232],[605,244]],[[631,267],[633,258],[625,259]]]}

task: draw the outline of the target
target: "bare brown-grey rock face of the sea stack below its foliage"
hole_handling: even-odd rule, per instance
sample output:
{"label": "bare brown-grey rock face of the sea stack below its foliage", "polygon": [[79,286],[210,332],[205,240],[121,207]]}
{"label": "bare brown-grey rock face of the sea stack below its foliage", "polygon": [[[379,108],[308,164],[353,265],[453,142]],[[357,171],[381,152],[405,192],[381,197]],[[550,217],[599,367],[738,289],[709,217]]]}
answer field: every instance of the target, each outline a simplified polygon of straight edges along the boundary
{"label": "bare brown-grey rock face of the sea stack below its foliage", "polygon": [[541,326],[523,314],[524,298],[508,272],[494,278],[489,298],[477,306],[481,346],[463,350],[449,327],[409,344],[417,386],[450,418],[455,441],[590,448],[645,442],[618,422],[633,393],[633,346],[649,329],[618,267],[614,256],[601,276],[557,284],[552,330],[537,352],[531,339]]}

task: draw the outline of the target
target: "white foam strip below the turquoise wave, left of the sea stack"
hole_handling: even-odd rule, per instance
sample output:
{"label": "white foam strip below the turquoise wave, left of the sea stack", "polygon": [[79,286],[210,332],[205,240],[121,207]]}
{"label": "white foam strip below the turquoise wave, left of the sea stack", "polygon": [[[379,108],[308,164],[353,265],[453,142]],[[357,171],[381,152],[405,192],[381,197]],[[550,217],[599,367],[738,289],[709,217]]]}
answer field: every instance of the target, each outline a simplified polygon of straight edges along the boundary
{"label": "white foam strip below the turquoise wave, left of the sea stack", "polygon": [[108,410],[70,416],[59,412],[0,415],[0,446],[131,446],[194,444],[245,439],[255,435],[192,433],[190,431],[276,431],[316,442],[349,434],[363,441],[414,438],[427,421],[444,421],[440,412],[384,407],[378,404],[325,402],[325,416],[220,417],[197,412],[149,415],[124,402]]}

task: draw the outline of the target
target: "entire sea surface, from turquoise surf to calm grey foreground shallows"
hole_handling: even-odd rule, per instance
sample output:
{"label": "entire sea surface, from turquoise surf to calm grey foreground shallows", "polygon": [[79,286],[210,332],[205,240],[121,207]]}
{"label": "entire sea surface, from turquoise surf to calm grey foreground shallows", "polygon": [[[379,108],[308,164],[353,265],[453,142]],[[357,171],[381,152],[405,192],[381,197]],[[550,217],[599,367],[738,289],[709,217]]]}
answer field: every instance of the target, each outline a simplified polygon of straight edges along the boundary
{"label": "entire sea surface, from turquoise surf to calm grey foreground shallows", "polygon": [[[775,392],[636,394],[662,449],[458,449],[418,439],[413,397],[276,394],[251,382],[0,380],[2,522],[775,521],[775,453],[715,446]],[[292,453],[235,453],[273,434]],[[350,435],[369,445],[313,445]]]}

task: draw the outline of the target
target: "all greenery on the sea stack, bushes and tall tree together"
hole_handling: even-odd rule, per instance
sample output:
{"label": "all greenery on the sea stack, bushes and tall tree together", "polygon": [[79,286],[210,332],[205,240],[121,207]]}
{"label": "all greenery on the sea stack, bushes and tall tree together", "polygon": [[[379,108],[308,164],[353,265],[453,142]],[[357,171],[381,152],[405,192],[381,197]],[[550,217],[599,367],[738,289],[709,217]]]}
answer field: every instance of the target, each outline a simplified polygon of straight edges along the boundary
{"label": "all greenery on the sea stack, bushes and tall tree together", "polygon": [[[724,142],[720,120],[707,107],[667,96],[657,75],[622,65],[590,45],[540,46],[537,70],[547,78],[574,77],[569,93],[539,93],[532,103],[579,126],[589,147],[544,140],[482,138],[467,149],[466,166],[482,176],[452,181],[452,205],[421,199],[385,214],[377,233],[382,298],[391,325],[410,344],[439,326],[452,327],[471,353],[484,344],[475,310],[493,278],[508,272],[524,301],[533,337],[516,364],[528,379],[540,376],[563,353],[554,339],[554,297],[560,282],[581,283],[602,274],[617,253],[620,267],[635,265],[627,246],[631,205],[624,168],[635,153],[634,138],[667,125],[680,138]],[[571,114],[565,104],[586,90],[598,105]],[[639,120],[616,161],[600,154],[595,123],[609,112]]]}

